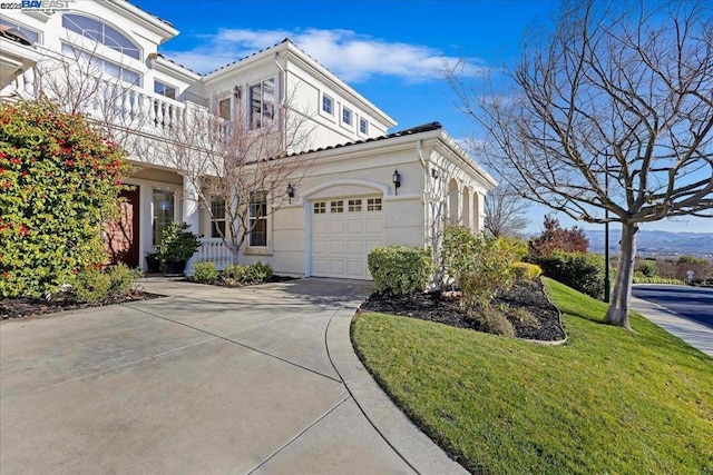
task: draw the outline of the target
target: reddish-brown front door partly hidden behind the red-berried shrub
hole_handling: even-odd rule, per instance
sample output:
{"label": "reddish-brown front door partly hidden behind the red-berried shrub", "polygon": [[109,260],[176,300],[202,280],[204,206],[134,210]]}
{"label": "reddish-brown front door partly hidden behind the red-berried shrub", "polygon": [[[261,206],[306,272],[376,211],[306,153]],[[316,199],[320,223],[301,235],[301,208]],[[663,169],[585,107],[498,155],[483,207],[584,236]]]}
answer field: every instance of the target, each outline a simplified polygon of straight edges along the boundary
{"label": "reddish-brown front door partly hidden behind the red-berried shrub", "polygon": [[129,267],[138,267],[138,210],[139,187],[121,191],[119,217],[105,224],[105,248],[109,255],[109,264],[124,263]]}

